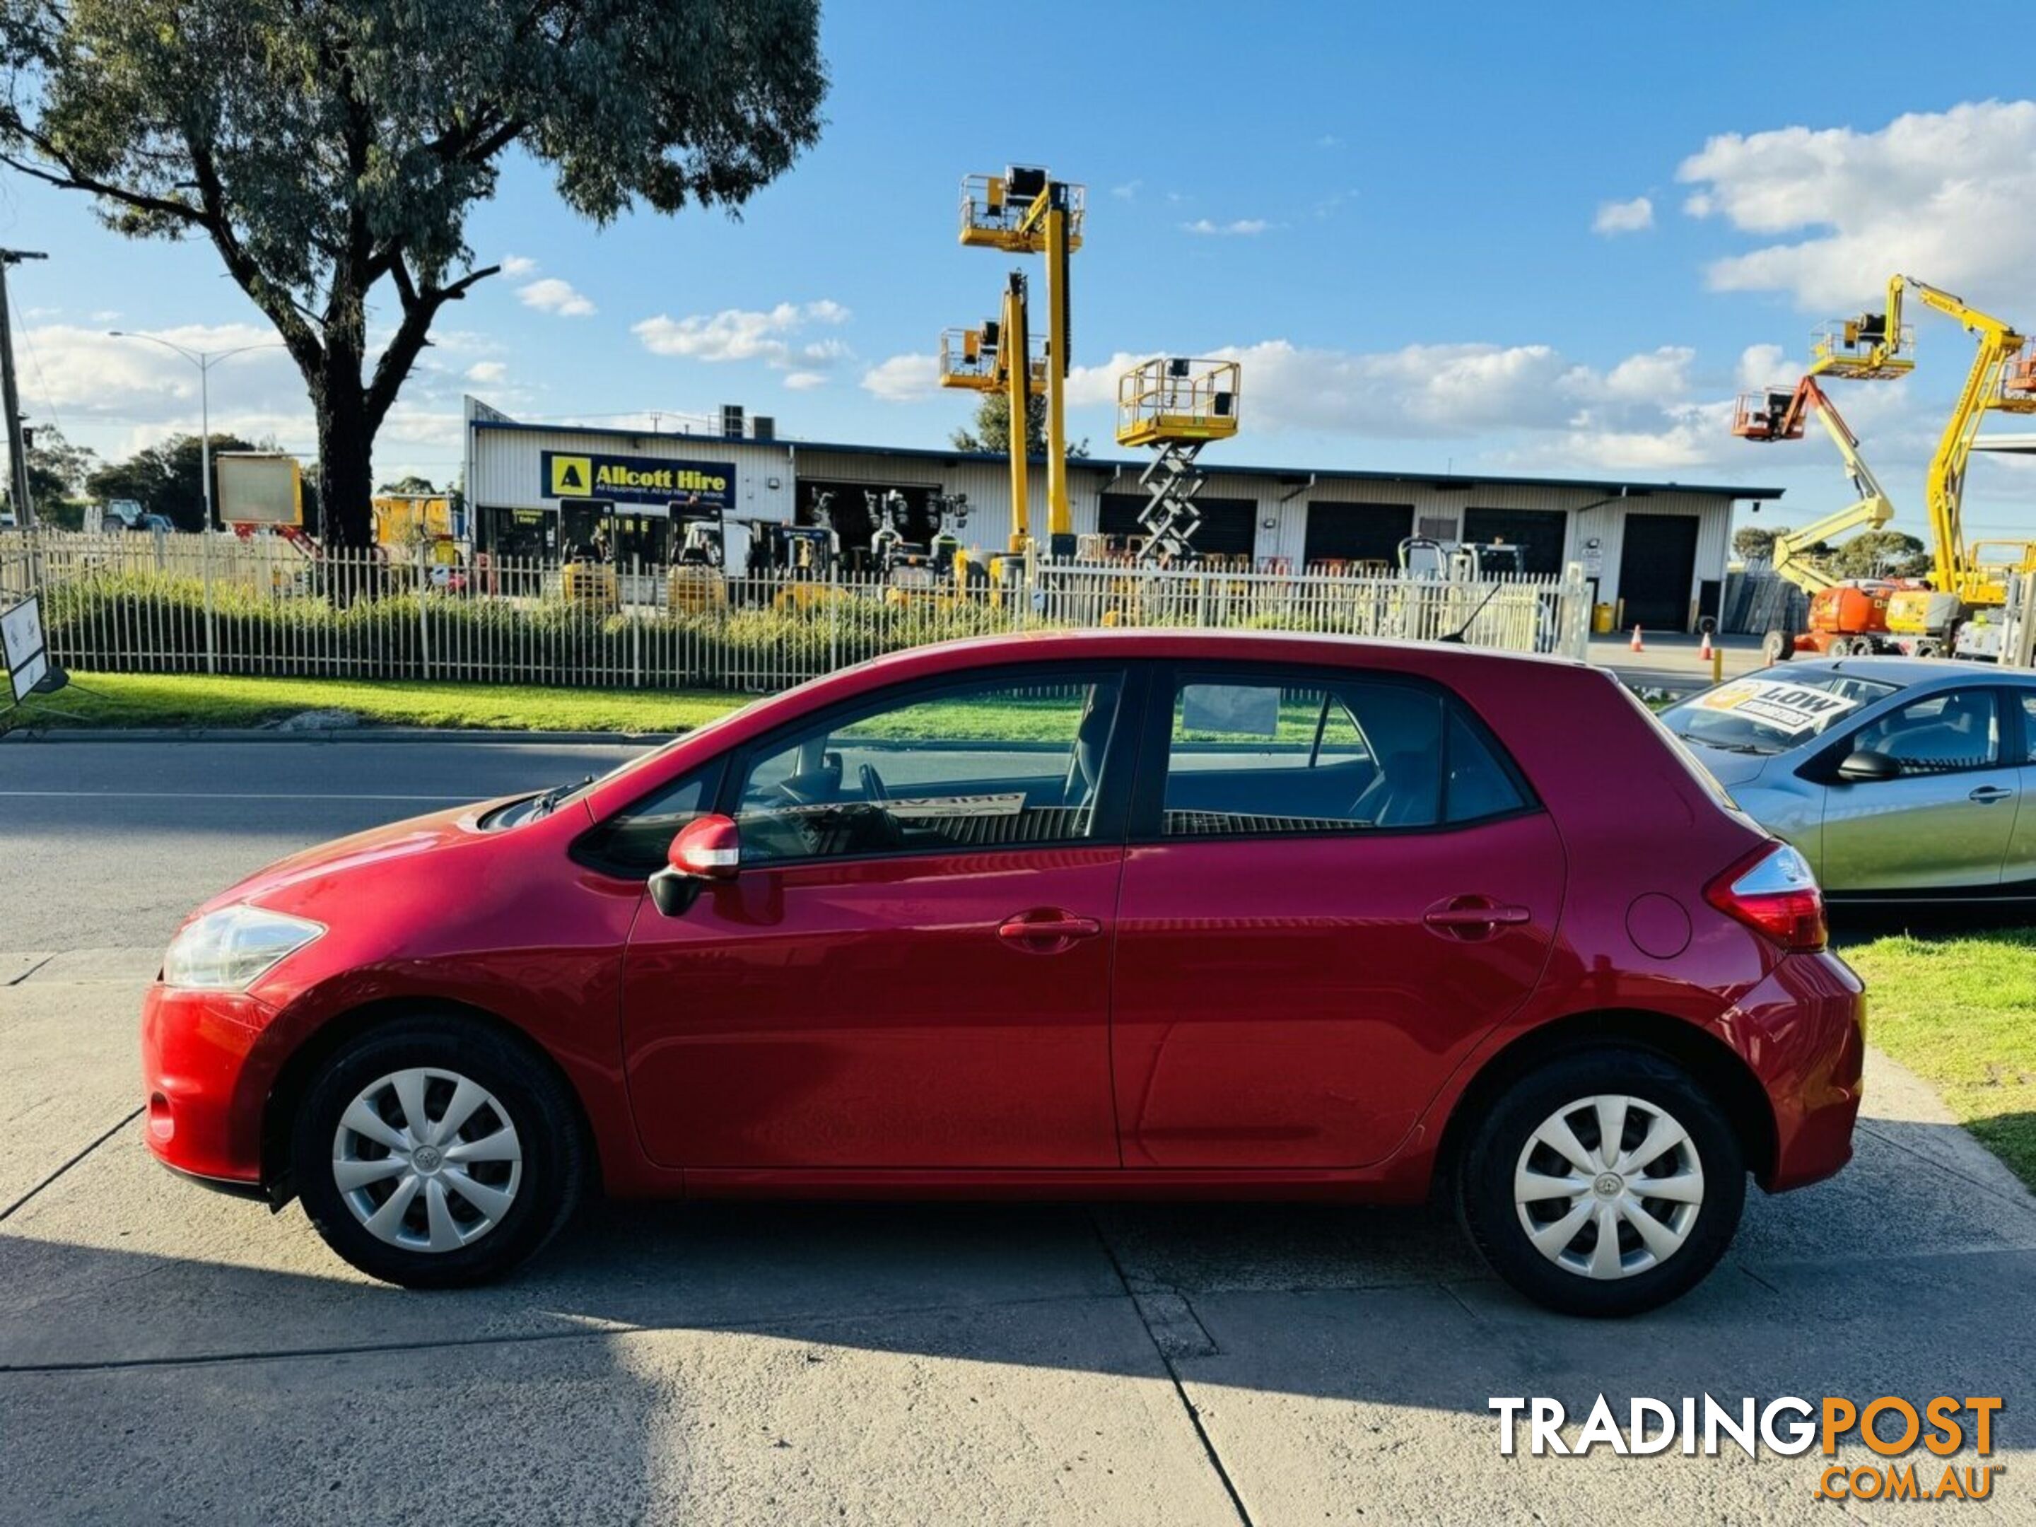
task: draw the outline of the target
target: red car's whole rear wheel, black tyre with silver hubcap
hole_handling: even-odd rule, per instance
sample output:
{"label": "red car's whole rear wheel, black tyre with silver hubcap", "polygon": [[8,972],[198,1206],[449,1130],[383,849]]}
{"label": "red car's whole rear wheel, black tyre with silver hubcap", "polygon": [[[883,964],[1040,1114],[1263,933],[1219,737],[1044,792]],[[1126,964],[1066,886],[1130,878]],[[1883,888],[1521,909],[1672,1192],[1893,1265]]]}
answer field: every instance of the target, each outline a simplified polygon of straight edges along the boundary
{"label": "red car's whole rear wheel, black tyre with silver hubcap", "polygon": [[1490,1268],[1566,1315],[1635,1315],[1716,1266],[1747,1197],[1745,1156],[1694,1077],[1647,1051],[1576,1051],[1476,1122],[1458,1215]]}

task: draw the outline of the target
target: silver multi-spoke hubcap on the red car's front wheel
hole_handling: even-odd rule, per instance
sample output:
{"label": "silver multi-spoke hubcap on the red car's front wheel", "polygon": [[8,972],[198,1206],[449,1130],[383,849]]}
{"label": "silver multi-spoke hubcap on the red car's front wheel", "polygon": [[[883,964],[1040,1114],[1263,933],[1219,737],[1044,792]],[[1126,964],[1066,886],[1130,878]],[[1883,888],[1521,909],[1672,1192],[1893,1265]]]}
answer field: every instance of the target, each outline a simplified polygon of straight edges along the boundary
{"label": "silver multi-spoke hubcap on the red car's front wheel", "polygon": [[509,1110],[458,1071],[419,1067],[371,1081],[332,1136],[332,1181],[354,1218],[409,1252],[470,1246],[501,1224],[523,1183]]}

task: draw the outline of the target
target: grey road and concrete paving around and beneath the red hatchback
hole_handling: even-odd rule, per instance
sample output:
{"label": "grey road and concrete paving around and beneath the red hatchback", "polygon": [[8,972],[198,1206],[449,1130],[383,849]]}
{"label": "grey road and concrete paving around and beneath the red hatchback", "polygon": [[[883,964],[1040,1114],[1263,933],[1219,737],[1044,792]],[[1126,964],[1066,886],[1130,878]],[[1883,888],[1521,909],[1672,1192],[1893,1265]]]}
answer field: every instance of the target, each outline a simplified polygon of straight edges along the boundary
{"label": "grey road and concrete paving around and beneath the red hatchback", "polygon": [[149,1161],[134,1010],[189,902],[613,757],[0,745],[0,1523],[1904,1513],[1818,1503],[1816,1454],[1498,1454],[1490,1397],[1600,1391],[2001,1395],[1967,1513],[2036,1521],[2036,1201],[1877,1057],[1857,1163],[1623,1323],[1521,1303],[1427,1211],[1293,1205],[605,1205],[411,1295]]}

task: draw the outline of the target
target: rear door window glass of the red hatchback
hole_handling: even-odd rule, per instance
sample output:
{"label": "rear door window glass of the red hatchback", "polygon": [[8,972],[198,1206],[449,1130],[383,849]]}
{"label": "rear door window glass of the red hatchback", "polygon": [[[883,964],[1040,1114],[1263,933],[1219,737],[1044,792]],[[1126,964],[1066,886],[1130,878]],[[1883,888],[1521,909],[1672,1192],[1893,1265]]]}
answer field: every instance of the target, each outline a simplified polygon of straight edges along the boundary
{"label": "rear door window glass of the red hatchback", "polygon": [[1484,733],[1433,690],[1193,674],[1175,686],[1165,837],[1407,831],[1525,804]]}

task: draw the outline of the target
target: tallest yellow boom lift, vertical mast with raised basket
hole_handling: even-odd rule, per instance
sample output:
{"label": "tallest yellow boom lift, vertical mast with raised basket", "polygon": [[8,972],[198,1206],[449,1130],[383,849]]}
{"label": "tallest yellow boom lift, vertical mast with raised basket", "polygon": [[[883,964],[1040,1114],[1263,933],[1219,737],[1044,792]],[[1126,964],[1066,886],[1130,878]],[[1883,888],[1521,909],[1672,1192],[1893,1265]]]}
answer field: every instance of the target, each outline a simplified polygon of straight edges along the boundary
{"label": "tallest yellow boom lift, vertical mast with raised basket", "polygon": [[[1085,187],[1057,181],[1044,169],[1012,165],[1002,175],[969,175],[961,181],[963,244],[1047,257],[1047,550],[1057,558],[1075,554],[1075,515],[1067,497],[1067,373],[1073,354],[1067,277],[1069,257],[1081,248],[1085,206]],[[1014,487],[1024,434],[1024,409],[1014,405]],[[1014,497],[1014,550],[1020,550],[1020,535],[1030,535],[1028,521],[1026,501]]]}

